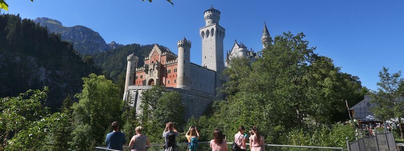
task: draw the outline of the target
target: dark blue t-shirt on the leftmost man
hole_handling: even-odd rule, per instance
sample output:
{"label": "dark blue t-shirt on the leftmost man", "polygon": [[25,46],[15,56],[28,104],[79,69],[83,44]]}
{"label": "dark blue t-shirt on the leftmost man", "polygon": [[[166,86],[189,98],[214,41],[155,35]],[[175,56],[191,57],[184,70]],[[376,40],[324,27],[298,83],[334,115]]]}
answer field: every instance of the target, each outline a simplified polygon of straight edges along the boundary
{"label": "dark blue t-shirt on the leftmost man", "polygon": [[122,145],[125,143],[125,134],[120,131],[110,132],[105,138],[105,144],[107,144],[108,149],[123,150]]}

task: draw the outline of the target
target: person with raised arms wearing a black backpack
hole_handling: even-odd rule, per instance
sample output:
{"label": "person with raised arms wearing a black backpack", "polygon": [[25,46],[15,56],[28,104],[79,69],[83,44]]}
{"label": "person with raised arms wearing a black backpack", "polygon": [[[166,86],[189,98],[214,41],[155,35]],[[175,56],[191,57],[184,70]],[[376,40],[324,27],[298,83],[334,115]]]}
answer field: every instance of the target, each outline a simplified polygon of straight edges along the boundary
{"label": "person with raised arms wearing a black backpack", "polygon": [[165,151],[177,151],[177,143],[175,141],[175,138],[178,136],[178,131],[174,127],[173,122],[168,122],[166,124],[166,129],[164,129],[163,132],[163,137],[166,141],[164,145],[164,150]]}

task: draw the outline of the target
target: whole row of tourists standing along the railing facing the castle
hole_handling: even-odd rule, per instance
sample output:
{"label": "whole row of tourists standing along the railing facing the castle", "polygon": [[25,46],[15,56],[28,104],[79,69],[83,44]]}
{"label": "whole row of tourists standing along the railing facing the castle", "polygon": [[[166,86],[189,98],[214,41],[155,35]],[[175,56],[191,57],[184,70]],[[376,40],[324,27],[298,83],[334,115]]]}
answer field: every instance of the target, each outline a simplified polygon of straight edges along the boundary
{"label": "whole row of tourists standing along the railing facing the castle", "polygon": [[[111,127],[113,131],[108,133],[105,139],[107,148],[122,150],[122,145],[126,143],[125,134],[119,131],[118,122],[113,122]],[[131,148],[131,151],[145,151],[146,147],[150,145],[150,140],[145,134],[142,134],[142,130],[142,127],[136,127],[136,134],[129,142],[129,148]],[[166,128],[163,131],[163,137],[165,139],[165,144],[163,147],[165,151],[178,150],[176,143],[176,138],[178,136],[178,131],[174,127],[174,123],[166,123]],[[195,126],[189,127],[185,137],[188,140],[187,151],[196,151],[198,149],[198,139],[200,137],[197,128]],[[248,133],[245,133],[245,128],[241,125],[238,127],[238,132],[234,135],[234,141],[231,144],[231,149],[234,151],[245,151],[247,139],[249,140],[249,149],[251,151],[265,150],[264,136],[260,134],[257,126],[253,126]],[[210,147],[212,148],[212,151],[228,150],[226,136],[223,134],[222,130],[215,129],[213,131],[213,139],[210,141]]]}

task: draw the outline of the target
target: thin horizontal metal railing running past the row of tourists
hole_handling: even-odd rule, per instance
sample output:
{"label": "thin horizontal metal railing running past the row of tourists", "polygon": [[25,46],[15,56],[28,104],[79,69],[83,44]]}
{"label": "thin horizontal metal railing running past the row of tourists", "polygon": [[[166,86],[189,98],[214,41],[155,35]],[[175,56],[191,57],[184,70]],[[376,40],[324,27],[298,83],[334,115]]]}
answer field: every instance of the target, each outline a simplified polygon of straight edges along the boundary
{"label": "thin horizontal metal railing running past the row of tourists", "polygon": [[[177,143],[178,145],[178,151],[181,150],[186,150],[188,143]],[[208,151],[208,150],[212,150],[212,148],[210,148],[210,142],[209,141],[202,141],[202,142],[198,142],[199,147],[198,147],[198,151]],[[229,150],[231,150],[230,148],[230,144],[232,144],[232,142],[228,142],[227,143],[229,146]],[[147,151],[154,151],[154,150],[164,150],[163,149],[163,145],[164,144],[153,144],[148,147]],[[249,143],[247,143],[247,146],[249,146]],[[341,147],[321,147],[321,146],[298,146],[298,145],[278,145],[278,144],[265,144],[266,149],[265,150],[344,150]],[[130,148],[127,145],[123,146],[124,151],[129,150]],[[105,146],[100,146],[100,147],[95,147],[95,151],[116,151],[114,149],[107,149],[107,147]],[[247,150],[249,150],[249,147],[247,147]]]}

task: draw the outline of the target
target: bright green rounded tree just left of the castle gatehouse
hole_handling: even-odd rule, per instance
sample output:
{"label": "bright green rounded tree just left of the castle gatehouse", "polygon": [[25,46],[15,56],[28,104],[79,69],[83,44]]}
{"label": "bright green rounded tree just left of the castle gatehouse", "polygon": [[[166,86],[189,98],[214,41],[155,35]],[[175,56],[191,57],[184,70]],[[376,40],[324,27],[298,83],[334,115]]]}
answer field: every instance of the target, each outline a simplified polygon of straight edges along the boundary
{"label": "bright green rounded tree just left of the castle gatehouse", "polygon": [[[72,150],[91,150],[103,145],[105,132],[113,121],[120,121],[123,101],[119,88],[104,75],[90,74],[83,78],[83,90],[73,104]],[[83,137],[84,136],[84,137]]]}

